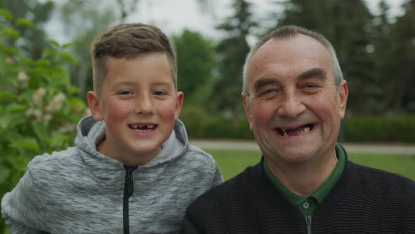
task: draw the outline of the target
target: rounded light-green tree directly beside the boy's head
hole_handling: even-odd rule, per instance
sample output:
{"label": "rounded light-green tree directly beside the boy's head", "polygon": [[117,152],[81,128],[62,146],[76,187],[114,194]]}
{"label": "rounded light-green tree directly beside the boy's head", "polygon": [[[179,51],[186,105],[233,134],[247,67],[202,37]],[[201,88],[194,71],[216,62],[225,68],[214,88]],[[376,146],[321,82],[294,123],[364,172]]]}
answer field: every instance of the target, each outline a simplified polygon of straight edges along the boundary
{"label": "rounded light-green tree directly beside the boy's head", "polygon": [[172,39],[177,49],[178,84],[179,90],[184,92],[184,104],[203,104],[210,92],[216,66],[212,42],[191,30],[183,30]]}

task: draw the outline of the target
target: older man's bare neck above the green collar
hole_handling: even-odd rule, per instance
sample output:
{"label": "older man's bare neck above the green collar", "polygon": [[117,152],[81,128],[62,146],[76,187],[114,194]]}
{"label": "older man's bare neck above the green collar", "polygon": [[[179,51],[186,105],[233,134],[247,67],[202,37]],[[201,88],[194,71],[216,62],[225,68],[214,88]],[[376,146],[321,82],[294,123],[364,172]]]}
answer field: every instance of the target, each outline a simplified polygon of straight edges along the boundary
{"label": "older man's bare neck above the green collar", "polygon": [[336,152],[325,158],[314,158],[304,164],[290,164],[281,161],[267,161],[269,170],[288,188],[302,197],[308,197],[326,182],[338,162]]}

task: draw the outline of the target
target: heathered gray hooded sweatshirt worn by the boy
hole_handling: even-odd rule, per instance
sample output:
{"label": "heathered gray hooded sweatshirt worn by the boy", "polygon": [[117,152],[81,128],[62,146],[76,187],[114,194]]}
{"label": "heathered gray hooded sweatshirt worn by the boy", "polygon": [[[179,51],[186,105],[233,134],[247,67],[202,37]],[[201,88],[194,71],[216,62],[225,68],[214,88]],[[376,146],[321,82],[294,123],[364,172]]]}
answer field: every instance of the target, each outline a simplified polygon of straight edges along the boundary
{"label": "heathered gray hooded sweatshirt worn by the boy", "polygon": [[[76,147],[30,162],[1,200],[11,233],[124,233],[126,218],[129,233],[178,233],[186,207],[223,182],[212,156],[189,144],[181,121],[158,156],[135,170],[96,151],[103,137],[105,124],[85,117]],[[123,209],[125,190],[132,195]]]}

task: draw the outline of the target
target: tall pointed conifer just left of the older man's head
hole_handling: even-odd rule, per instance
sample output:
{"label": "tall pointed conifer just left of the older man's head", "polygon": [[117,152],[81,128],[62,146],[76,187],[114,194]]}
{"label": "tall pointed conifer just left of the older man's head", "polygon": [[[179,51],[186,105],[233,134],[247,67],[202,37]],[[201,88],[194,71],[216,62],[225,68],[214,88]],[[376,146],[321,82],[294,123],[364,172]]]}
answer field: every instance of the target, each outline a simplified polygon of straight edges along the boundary
{"label": "tall pointed conifer just left of the older man's head", "polygon": [[242,68],[249,52],[246,40],[250,30],[257,26],[251,13],[251,5],[245,0],[234,0],[234,13],[216,28],[226,33],[216,47],[218,54],[219,77],[215,81],[210,99],[217,104],[219,111],[237,116],[243,113],[241,102]]}

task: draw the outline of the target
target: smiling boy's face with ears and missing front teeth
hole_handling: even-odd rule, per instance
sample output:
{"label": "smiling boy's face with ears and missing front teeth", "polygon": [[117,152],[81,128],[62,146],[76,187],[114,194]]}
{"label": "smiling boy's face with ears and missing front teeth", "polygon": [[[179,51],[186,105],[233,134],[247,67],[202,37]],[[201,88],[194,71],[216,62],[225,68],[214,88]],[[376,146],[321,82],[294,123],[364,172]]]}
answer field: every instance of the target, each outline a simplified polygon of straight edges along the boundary
{"label": "smiling boy's face with ears and missing front teeth", "polygon": [[128,164],[143,164],[160,152],[179,117],[183,93],[174,88],[166,54],[109,58],[101,97],[89,92],[96,121],[105,121],[98,150]]}

